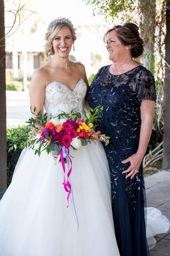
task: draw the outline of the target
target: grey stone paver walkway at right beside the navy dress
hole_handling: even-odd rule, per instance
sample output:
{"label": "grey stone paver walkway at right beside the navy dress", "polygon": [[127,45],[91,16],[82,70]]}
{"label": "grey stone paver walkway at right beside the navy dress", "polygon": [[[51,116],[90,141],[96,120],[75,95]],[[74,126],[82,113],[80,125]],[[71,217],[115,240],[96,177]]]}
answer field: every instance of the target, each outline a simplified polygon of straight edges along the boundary
{"label": "grey stone paver walkway at right beside the navy dress", "polygon": [[[159,209],[170,220],[170,172],[161,171],[145,178],[147,206]],[[151,256],[170,256],[170,233],[155,237]]]}

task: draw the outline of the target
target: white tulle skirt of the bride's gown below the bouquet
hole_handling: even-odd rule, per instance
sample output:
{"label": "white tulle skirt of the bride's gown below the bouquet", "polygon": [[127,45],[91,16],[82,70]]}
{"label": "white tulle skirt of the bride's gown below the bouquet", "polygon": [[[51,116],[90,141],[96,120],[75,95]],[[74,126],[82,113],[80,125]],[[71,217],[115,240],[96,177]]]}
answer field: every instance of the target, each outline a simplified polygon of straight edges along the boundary
{"label": "white tulle skirt of the bride's gown below the bouquet", "polygon": [[100,143],[71,152],[72,204],[63,169],[52,156],[22,152],[0,202],[1,256],[119,256],[112,221],[109,169]]}

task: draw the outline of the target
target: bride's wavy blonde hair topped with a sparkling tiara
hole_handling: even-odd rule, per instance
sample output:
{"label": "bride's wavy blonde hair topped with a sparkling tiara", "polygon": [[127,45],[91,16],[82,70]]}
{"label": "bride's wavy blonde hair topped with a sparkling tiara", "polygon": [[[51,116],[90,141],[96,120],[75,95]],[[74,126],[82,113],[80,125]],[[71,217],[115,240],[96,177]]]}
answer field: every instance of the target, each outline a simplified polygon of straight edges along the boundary
{"label": "bride's wavy blonde hair topped with a sparkling tiara", "polygon": [[52,46],[52,40],[58,33],[59,29],[63,26],[67,26],[72,34],[73,42],[76,40],[75,28],[73,28],[73,24],[70,20],[66,18],[59,18],[50,22],[49,27],[47,28],[47,32],[45,33],[45,45],[43,55],[45,60],[50,60],[51,56],[54,55],[54,49]]}

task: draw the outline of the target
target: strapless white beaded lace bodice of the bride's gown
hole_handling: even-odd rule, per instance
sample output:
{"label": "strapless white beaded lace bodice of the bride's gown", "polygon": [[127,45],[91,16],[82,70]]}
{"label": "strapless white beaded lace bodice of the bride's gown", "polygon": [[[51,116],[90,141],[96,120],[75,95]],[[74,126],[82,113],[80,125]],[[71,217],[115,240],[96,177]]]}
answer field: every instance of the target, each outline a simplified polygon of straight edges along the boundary
{"label": "strapless white beaded lace bodice of the bride's gown", "polygon": [[45,111],[49,115],[56,116],[63,111],[70,113],[74,109],[75,112],[81,113],[82,118],[85,118],[84,99],[86,92],[87,85],[83,79],[79,79],[73,90],[65,84],[53,81],[45,88]]}

